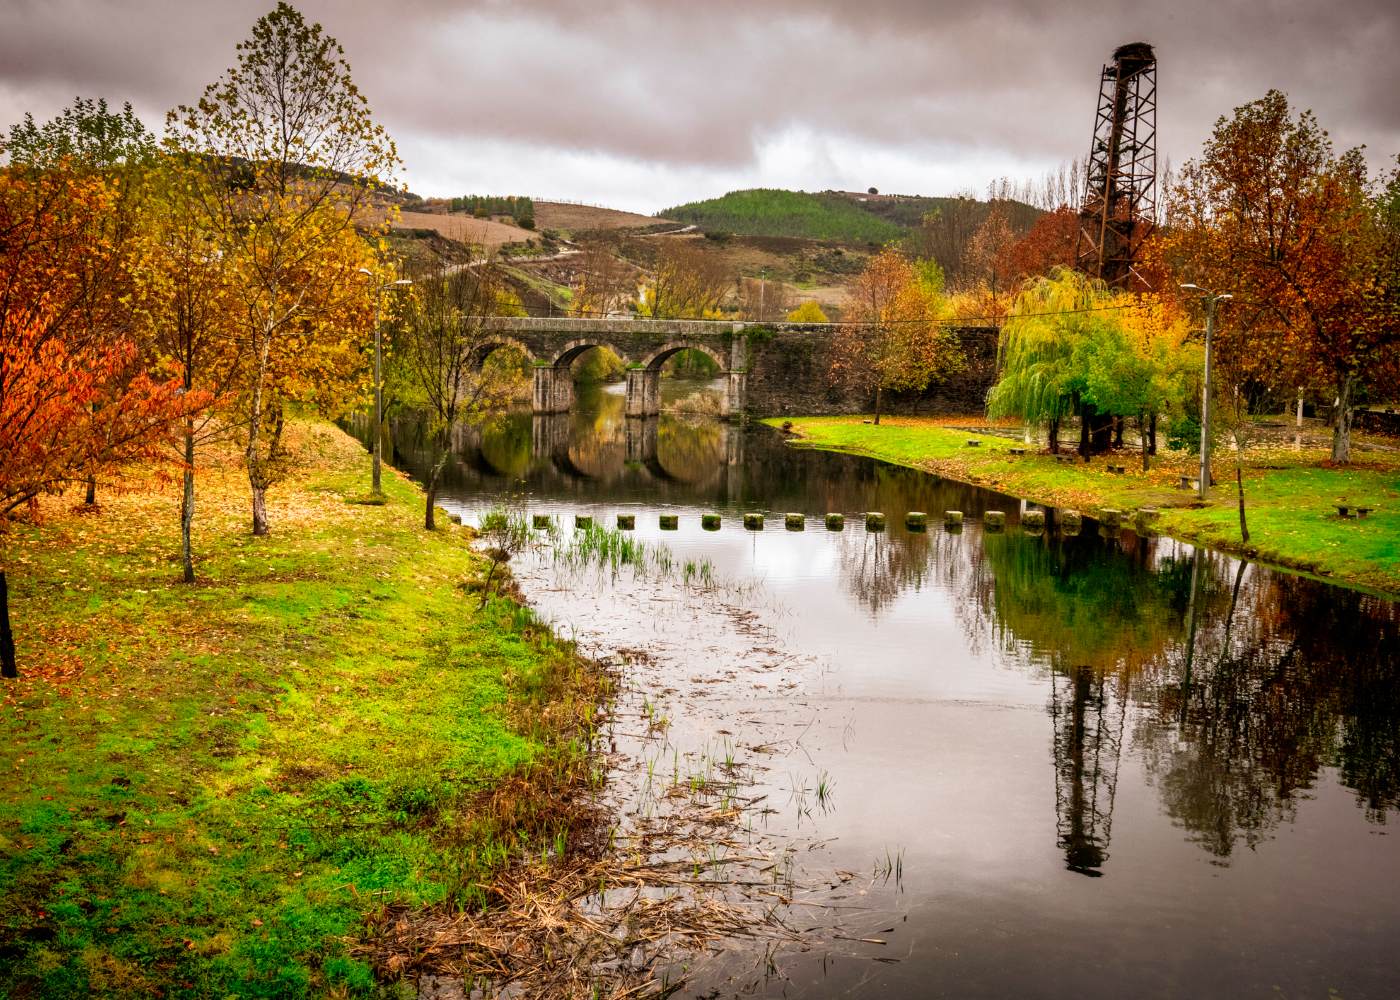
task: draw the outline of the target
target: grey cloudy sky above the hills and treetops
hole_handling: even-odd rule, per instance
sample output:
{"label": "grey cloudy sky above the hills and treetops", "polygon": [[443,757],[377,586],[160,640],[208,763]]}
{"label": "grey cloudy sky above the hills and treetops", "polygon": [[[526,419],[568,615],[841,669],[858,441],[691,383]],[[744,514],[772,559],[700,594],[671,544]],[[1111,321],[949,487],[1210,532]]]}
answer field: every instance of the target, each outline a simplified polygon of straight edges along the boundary
{"label": "grey cloudy sky above the hills and treetops", "polygon": [[[421,195],[655,211],[735,188],[939,195],[1088,150],[1113,48],[1158,52],[1159,155],[1270,87],[1380,167],[1396,0],[301,0]],[[272,0],[0,0],[0,125],[74,95],[151,127]]]}

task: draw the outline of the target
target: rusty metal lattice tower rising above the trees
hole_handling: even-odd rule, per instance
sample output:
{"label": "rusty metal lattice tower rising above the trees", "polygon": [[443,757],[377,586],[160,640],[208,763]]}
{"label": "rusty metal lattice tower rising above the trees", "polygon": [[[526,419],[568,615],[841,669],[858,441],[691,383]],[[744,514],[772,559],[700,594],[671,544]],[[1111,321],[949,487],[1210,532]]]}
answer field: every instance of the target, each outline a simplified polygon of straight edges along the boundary
{"label": "rusty metal lattice tower rising above the trees", "polygon": [[1085,171],[1075,263],[1110,286],[1147,289],[1137,272],[1156,218],[1156,55],[1120,45],[1103,67]]}

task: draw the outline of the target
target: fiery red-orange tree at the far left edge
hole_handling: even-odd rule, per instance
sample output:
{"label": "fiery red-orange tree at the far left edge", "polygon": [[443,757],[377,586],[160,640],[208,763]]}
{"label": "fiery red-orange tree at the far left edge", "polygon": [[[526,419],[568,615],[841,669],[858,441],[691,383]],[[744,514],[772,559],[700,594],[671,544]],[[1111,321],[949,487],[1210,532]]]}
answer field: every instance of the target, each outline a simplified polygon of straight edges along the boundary
{"label": "fiery red-orange tree at the far left edge", "polygon": [[[94,324],[119,318],[111,286],[92,283],[120,269],[102,221],[118,195],[69,162],[0,171],[0,545],[15,511],[154,455],[207,402],[148,374],[132,338]],[[0,672],[17,672],[3,550]]]}

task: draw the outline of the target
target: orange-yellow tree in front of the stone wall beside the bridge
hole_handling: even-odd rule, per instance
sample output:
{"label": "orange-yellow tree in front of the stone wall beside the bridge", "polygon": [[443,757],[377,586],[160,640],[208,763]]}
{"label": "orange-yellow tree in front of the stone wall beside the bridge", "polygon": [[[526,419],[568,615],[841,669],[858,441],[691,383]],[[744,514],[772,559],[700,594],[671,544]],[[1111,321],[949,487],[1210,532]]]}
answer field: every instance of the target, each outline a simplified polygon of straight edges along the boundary
{"label": "orange-yellow tree in front of the stone wall beside the bridge", "polygon": [[925,389],[966,364],[956,335],[942,324],[942,297],[895,248],[872,256],[850,289],[850,318],[833,342],[832,377],[875,396],[875,423],[886,392]]}

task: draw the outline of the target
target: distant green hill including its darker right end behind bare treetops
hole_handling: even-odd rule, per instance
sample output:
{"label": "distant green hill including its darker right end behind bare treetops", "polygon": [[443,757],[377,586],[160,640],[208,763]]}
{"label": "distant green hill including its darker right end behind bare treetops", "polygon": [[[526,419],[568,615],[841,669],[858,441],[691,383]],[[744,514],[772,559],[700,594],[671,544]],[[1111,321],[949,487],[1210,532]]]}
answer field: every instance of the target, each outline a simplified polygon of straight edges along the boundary
{"label": "distant green hill including its darker right end behind bare treetops", "polygon": [[[960,199],[956,197],[755,188],[679,204],[658,214],[707,231],[869,245],[907,237],[927,213],[948,210],[958,203]],[[970,204],[962,202],[962,204],[969,209],[974,227],[991,210],[987,202]],[[1040,216],[1040,211],[1029,204],[1019,202],[1004,204],[1009,206],[1009,221],[1015,230],[1029,228]]]}

